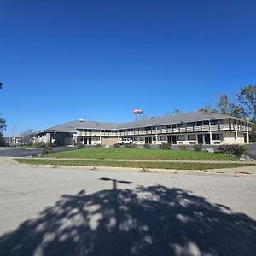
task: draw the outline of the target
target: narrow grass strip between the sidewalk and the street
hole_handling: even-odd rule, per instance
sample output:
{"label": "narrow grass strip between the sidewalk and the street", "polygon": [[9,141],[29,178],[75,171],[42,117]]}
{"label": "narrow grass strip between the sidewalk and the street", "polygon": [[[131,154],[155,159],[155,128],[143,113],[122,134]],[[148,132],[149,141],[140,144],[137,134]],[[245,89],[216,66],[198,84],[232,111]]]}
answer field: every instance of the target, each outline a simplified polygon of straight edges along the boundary
{"label": "narrow grass strip between the sidewalk and the street", "polygon": [[111,166],[150,169],[175,170],[207,170],[249,166],[248,164],[229,163],[182,163],[182,162],[132,162],[108,160],[46,160],[46,159],[15,159],[21,164],[54,165],[54,166]]}

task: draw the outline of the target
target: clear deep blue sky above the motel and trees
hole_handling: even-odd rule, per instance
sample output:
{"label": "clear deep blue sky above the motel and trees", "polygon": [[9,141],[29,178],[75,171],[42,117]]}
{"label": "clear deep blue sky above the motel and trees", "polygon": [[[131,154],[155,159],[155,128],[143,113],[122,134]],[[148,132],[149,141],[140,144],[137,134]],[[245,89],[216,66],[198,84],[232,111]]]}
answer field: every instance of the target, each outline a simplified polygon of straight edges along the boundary
{"label": "clear deep blue sky above the motel and trees", "polygon": [[254,0],[0,0],[0,112],[16,135],[194,111],[256,81]]}

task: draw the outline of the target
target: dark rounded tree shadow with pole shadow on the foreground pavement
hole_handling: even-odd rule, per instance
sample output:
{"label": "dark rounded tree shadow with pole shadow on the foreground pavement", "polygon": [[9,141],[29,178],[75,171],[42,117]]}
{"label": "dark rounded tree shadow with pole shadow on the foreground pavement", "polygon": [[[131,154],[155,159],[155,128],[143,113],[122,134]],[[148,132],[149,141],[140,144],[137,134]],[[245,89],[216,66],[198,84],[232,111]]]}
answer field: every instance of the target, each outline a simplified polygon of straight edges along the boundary
{"label": "dark rounded tree shadow with pole shadow on the foreground pavement", "polygon": [[1,236],[0,255],[256,255],[256,222],[247,215],[183,189],[117,183],[62,195]]}

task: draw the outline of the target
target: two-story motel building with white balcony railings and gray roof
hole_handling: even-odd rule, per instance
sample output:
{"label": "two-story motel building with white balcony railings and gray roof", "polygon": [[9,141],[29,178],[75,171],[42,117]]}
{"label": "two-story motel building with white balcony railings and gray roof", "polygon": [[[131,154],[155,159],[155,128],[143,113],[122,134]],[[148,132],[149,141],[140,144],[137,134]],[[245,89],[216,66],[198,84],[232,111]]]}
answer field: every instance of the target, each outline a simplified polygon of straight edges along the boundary
{"label": "two-story motel building with white balcony railings and gray roof", "polygon": [[129,123],[75,120],[39,131],[37,142],[72,145],[114,144],[122,137],[133,143],[234,144],[249,142],[252,123],[218,113],[179,113]]}

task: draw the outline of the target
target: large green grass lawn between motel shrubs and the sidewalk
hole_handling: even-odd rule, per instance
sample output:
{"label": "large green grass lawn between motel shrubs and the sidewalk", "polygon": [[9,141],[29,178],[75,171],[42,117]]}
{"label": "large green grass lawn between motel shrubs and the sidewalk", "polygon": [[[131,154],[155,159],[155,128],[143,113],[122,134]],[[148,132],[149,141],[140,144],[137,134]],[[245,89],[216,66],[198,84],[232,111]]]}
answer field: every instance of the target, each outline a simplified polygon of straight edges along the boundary
{"label": "large green grass lawn between motel shrubs and the sidewalk", "polygon": [[144,148],[83,148],[47,154],[53,158],[129,159],[129,160],[237,160],[231,154]]}

